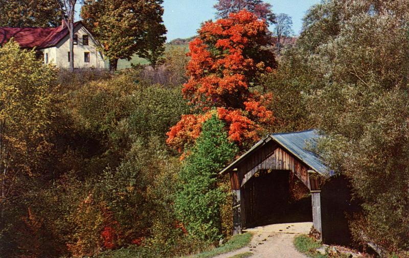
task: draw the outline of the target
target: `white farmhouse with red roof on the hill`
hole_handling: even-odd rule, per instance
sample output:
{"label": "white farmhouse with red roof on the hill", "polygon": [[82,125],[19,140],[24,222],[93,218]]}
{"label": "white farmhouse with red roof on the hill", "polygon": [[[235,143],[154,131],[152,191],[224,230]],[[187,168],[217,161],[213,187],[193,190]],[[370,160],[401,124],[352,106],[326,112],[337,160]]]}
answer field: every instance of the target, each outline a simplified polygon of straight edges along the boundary
{"label": "white farmhouse with red roof on the hill", "polygon": [[[59,68],[70,67],[70,34],[64,22],[56,28],[0,27],[0,45],[10,38],[14,38],[21,48],[35,47],[41,51],[44,63],[54,63]],[[75,68],[105,68],[99,46],[94,35],[81,21],[74,23]]]}

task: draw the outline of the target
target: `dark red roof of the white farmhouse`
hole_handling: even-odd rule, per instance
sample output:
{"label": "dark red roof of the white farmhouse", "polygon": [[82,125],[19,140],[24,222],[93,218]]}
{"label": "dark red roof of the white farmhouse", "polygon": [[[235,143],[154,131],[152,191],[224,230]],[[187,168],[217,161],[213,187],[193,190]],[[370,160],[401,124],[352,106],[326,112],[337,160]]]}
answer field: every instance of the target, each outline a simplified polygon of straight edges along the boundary
{"label": "dark red roof of the white farmhouse", "polygon": [[[81,22],[74,23],[76,27]],[[58,26],[56,28],[10,28],[0,27],[0,46],[4,45],[10,38],[14,38],[21,48],[39,49],[54,47],[58,42],[68,35],[68,28]]]}

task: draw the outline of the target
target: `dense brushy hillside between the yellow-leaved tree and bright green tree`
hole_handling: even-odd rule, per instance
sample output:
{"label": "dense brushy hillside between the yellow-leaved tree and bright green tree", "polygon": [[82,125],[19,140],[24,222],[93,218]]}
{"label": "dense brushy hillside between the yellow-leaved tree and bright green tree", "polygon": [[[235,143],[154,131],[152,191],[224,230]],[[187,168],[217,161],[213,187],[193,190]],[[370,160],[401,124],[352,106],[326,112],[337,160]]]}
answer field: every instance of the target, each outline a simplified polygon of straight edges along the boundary
{"label": "dense brushy hillside between the yellow-leaved tree and bright green tree", "polygon": [[46,99],[53,103],[50,148],[32,170],[43,169],[41,177],[16,181],[24,196],[4,212],[2,256],[80,257],[127,246],[144,257],[196,250],[175,217],[172,182],[180,162],[165,144],[168,128],[190,112],[180,88],[150,84],[133,70],[63,80],[66,88]]}

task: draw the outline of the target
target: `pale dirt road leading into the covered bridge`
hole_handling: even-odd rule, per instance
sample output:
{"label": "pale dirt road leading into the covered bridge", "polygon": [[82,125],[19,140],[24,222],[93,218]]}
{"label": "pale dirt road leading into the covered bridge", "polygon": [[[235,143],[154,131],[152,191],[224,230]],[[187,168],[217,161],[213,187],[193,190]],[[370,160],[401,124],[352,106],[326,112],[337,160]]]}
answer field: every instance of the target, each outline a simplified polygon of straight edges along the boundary
{"label": "pale dirt road leading into the covered bridge", "polygon": [[297,234],[307,234],[311,226],[312,222],[302,222],[273,224],[246,229],[245,231],[254,233],[249,246],[216,257],[229,258],[235,254],[252,252],[252,258],[307,258],[294,248],[292,242]]}

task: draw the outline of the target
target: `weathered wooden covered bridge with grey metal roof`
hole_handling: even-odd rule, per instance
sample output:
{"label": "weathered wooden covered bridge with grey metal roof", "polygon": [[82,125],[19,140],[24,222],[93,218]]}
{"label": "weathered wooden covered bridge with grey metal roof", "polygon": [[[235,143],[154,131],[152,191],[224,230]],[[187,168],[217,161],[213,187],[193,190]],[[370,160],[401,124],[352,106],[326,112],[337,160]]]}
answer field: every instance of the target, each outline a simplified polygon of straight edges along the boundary
{"label": "weathered wooden covered bridge with grey metal roof", "polygon": [[296,176],[310,192],[307,198],[311,205],[307,212],[324,242],[349,243],[346,213],[351,211],[351,196],[348,182],[342,177],[333,177],[320,158],[307,150],[307,145],[314,144],[317,137],[315,130],[268,135],[220,172],[230,174],[233,233],[260,226],[266,218],[270,218],[270,223],[279,223],[275,217],[279,213],[297,220],[289,213],[305,212],[301,204],[295,210],[285,209],[291,190],[288,180]]}

